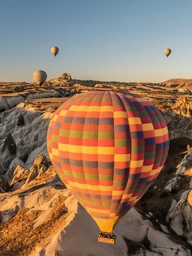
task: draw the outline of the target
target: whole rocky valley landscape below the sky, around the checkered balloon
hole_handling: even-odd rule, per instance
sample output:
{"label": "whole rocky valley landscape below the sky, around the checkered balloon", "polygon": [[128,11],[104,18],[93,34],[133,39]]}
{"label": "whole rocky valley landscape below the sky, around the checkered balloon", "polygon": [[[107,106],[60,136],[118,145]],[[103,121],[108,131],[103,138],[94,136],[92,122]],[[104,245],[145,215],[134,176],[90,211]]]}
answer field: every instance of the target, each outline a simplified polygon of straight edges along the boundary
{"label": "whole rocky valley landscape below the sky, around the checkered balloon", "polygon": [[[0,256],[191,256],[192,79],[163,83],[81,81],[63,73],[41,87],[0,83]],[[46,148],[54,111],[90,90],[129,91],[162,112],[170,149],[159,177],[114,230],[99,229],[55,173]]]}

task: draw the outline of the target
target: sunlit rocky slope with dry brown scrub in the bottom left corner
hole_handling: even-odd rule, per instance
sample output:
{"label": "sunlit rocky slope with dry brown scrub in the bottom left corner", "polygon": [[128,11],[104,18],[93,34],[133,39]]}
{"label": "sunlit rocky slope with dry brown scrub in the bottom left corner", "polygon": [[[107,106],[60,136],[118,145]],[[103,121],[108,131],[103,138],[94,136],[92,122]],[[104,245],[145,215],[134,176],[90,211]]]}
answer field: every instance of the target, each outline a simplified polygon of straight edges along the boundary
{"label": "sunlit rocky slope with dry brown scrub in the bottom left corner", "polygon": [[77,213],[76,199],[51,177],[43,184],[0,194],[0,201],[1,256],[51,256],[52,252],[37,251],[53,241]]}

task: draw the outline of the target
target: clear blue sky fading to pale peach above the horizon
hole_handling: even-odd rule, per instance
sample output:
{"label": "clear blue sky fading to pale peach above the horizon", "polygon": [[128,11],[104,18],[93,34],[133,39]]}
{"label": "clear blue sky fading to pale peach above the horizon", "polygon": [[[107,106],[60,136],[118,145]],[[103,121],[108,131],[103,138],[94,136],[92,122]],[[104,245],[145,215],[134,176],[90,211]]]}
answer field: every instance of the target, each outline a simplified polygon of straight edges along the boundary
{"label": "clear blue sky fading to pale peach above the horizon", "polygon": [[192,78],[191,13],[191,0],[2,0],[0,81]]}

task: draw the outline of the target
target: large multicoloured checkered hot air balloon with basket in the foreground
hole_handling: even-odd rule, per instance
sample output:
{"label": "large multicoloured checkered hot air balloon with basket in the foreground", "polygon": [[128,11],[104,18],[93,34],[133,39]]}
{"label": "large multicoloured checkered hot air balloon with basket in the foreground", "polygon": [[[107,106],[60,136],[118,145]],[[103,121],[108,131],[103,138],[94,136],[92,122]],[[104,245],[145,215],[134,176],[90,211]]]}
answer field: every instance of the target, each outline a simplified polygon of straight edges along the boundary
{"label": "large multicoloured checkered hot air balloon with basket in the foreground", "polygon": [[157,178],[168,149],[161,113],[131,93],[77,95],[55,111],[47,131],[53,167],[106,243],[115,243],[113,228]]}

